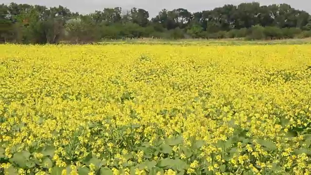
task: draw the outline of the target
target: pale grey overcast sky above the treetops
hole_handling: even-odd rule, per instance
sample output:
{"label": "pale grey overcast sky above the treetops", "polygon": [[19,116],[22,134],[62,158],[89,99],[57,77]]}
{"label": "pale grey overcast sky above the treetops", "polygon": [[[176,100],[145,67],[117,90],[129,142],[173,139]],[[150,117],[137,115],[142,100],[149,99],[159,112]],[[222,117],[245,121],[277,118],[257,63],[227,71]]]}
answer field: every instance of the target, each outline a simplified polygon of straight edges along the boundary
{"label": "pale grey overcast sky above the treetops", "polygon": [[[185,8],[190,12],[198,12],[221,7],[225,4],[239,4],[252,1],[258,1],[261,5],[287,3],[295,9],[311,13],[311,0],[14,0],[16,3],[39,4],[48,7],[62,5],[73,12],[82,14],[111,7],[122,7],[124,10],[137,7],[147,10],[150,17],[155,17],[164,8],[168,10]],[[10,2],[12,0],[0,0],[0,3],[8,4]]]}

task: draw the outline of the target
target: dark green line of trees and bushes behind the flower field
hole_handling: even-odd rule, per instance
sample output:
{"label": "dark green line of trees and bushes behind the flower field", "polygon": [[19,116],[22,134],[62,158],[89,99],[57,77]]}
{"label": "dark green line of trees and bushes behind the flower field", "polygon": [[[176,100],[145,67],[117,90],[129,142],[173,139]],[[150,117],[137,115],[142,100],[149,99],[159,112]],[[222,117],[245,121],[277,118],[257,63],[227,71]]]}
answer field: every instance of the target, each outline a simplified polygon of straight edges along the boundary
{"label": "dark green line of trees and bushes behind the flower field", "polygon": [[148,11],[104,8],[87,15],[63,6],[0,4],[0,42],[70,43],[124,38],[240,38],[311,37],[311,15],[289,4],[258,2],[227,4],[190,13],[187,9]]}

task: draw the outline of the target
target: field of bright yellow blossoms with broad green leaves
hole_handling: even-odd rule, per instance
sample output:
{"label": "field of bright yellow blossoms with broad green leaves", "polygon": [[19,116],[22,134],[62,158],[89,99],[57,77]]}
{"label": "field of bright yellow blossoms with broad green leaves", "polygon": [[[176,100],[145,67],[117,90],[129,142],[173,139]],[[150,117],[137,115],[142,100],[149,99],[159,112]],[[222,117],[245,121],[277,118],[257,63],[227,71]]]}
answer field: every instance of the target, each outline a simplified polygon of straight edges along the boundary
{"label": "field of bright yellow blossoms with broad green leaves", "polygon": [[0,45],[0,174],[309,175],[311,45]]}

